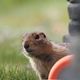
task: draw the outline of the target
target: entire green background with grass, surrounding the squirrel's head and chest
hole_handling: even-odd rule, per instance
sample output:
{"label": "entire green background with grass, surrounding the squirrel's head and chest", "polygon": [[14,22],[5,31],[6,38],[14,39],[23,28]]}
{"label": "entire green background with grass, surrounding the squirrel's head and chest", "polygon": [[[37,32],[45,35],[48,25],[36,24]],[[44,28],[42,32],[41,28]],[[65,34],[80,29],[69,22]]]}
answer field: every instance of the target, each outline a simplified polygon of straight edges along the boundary
{"label": "entire green background with grass, surrounding the squirrel's head and chest", "polygon": [[23,34],[43,31],[61,42],[68,21],[66,0],[0,0],[0,80],[38,80],[22,54]]}

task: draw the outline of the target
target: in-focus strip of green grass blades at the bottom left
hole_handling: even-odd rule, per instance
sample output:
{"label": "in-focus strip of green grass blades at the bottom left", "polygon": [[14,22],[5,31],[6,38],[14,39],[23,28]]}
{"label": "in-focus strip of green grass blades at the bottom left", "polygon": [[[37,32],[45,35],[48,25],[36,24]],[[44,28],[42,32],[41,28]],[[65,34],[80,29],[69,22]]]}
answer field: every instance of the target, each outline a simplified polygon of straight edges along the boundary
{"label": "in-focus strip of green grass blades at the bottom left", "polygon": [[38,80],[31,69],[21,65],[0,66],[0,80]]}

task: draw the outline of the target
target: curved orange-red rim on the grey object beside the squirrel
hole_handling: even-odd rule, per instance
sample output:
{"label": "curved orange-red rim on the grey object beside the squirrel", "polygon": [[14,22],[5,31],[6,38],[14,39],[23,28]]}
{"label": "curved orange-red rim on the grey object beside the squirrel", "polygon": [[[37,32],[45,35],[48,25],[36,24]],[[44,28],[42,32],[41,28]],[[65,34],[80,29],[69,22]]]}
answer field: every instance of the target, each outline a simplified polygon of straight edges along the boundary
{"label": "curved orange-red rim on the grey object beside the squirrel", "polygon": [[57,61],[49,73],[48,80],[58,80],[60,72],[71,63],[71,59],[72,55],[69,55]]}

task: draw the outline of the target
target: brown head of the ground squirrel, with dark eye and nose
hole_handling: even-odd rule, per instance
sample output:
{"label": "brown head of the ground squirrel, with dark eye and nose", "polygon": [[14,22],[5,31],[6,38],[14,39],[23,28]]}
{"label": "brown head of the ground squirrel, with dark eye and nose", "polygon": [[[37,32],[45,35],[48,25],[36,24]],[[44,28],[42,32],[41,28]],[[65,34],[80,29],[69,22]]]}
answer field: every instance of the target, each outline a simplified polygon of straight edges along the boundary
{"label": "brown head of the ground squirrel, with dark eye and nose", "polygon": [[50,42],[43,32],[26,33],[23,38],[23,47],[30,56],[39,56],[49,53]]}

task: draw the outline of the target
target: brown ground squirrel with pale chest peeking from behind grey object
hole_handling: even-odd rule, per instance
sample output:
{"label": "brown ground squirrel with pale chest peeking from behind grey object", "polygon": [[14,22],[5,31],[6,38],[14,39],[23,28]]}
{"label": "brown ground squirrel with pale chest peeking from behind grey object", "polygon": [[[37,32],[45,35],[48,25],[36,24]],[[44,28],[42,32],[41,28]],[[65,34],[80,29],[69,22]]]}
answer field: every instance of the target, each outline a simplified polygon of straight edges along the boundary
{"label": "brown ground squirrel with pale chest peeking from behind grey object", "polygon": [[47,80],[56,61],[69,54],[64,44],[49,41],[43,32],[26,33],[23,38],[24,53],[30,60],[40,80]]}

